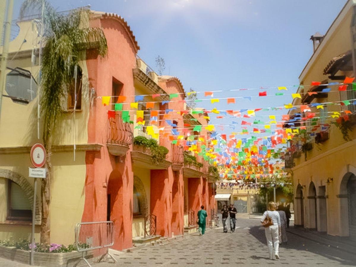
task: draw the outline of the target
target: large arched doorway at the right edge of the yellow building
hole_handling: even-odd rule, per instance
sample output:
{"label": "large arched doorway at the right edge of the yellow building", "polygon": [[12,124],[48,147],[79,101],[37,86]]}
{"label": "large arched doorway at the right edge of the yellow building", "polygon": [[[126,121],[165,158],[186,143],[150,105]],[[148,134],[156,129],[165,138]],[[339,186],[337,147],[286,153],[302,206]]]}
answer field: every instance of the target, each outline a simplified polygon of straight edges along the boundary
{"label": "large arched doorway at the right edge of the yellow building", "polygon": [[340,183],[341,235],[356,239],[356,176],[347,172]]}

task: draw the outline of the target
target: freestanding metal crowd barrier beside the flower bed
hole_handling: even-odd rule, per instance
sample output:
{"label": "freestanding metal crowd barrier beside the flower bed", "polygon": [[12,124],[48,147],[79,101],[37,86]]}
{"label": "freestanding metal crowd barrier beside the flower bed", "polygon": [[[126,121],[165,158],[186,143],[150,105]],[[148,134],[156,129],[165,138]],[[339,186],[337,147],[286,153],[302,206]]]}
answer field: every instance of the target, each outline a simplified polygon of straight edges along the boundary
{"label": "freestanding metal crowd barrier beside the flower bed", "polygon": [[[83,260],[89,267],[91,265],[84,257],[85,252],[95,249],[109,248],[114,245],[114,223],[112,221],[94,221],[77,223],[74,228],[75,246],[77,251],[82,252],[82,257],[75,263],[74,267]],[[101,256],[99,262],[108,255],[114,262],[115,258],[109,253],[109,250]]]}

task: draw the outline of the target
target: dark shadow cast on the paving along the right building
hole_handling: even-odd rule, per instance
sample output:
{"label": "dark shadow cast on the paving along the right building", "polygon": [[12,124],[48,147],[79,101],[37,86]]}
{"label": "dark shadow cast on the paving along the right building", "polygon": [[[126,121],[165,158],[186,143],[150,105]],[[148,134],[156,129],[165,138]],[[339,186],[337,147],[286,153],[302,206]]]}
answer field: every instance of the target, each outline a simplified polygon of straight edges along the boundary
{"label": "dark shadow cast on the paving along the right building", "polygon": [[[266,237],[264,233],[265,229],[262,226],[251,227],[249,232],[254,236],[258,241],[261,242],[261,245],[267,246]],[[338,261],[342,265],[355,265],[355,256],[348,253],[340,253],[338,250],[329,250],[325,251],[324,245],[313,242],[310,240],[305,240],[302,237],[287,233],[288,242],[287,244],[279,245],[281,248],[285,249],[284,253],[293,253],[292,250],[300,250],[318,254],[329,260]],[[305,246],[306,242],[310,242],[311,246]],[[268,252],[266,252],[268,253]],[[280,254],[281,255],[281,254]],[[281,255],[283,257],[283,255]],[[295,258],[297,260],[297,258]]]}

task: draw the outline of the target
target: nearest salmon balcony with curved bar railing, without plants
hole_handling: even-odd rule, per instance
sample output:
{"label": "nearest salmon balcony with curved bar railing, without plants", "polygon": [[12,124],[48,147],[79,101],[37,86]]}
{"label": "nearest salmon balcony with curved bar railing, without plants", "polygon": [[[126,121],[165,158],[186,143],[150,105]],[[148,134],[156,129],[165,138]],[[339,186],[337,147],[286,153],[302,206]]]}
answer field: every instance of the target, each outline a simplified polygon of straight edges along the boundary
{"label": "nearest salmon balcony with curved bar railing, without plants", "polygon": [[115,112],[115,118],[109,118],[108,137],[106,147],[114,156],[125,156],[129,146],[132,144],[133,134],[130,123],[124,123],[121,112]]}

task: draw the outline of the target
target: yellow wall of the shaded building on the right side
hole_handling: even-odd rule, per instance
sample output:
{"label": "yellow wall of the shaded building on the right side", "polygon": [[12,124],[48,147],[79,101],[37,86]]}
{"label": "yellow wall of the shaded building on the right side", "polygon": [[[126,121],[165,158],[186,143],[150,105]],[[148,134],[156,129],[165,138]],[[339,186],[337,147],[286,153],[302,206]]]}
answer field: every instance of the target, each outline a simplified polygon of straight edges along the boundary
{"label": "yellow wall of the shaded building on the right side", "polygon": [[[329,33],[326,34],[319,48],[310,59],[305,70],[300,76],[300,83],[306,85],[304,90],[299,89],[299,92],[307,92],[312,81],[323,81],[328,79],[328,75],[323,75],[324,68],[334,57],[351,50],[351,31],[350,23],[352,18],[352,3],[349,1],[345,9],[341,11],[340,16],[336,18],[334,25],[330,27]],[[312,46],[312,43],[310,43]],[[352,73],[344,73],[346,76],[353,76]],[[333,82],[328,80],[328,82]],[[340,81],[342,82],[342,81]],[[315,98],[315,102],[334,102],[345,100],[345,95],[339,94],[338,86],[331,87],[331,92],[326,98]],[[294,101],[294,105],[300,105],[300,99]],[[345,110],[345,107],[342,108]],[[319,111],[312,108],[312,112],[319,116]],[[328,111],[341,111],[341,106],[328,105]],[[295,111],[294,111],[295,112]],[[292,113],[291,113],[292,114]],[[330,116],[330,113],[328,114]],[[334,120],[334,119],[333,119]],[[350,134],[352,139],[356,138],[355,131]],[[313,142],[314,143],[314,142]],[[307,151],[305,160],[302,153],[299,159],[294,159],[295,167],[293,170],[293,185],[294,194],[297,186],[305,186],[303,188],[303,205],[304,205],[304,226],[306,228],[314,228],[315,220],[313,218],[313,210],[311,207],[312,201],[308,199],[311,196],[310,184],[314,183],[316,194],[319,196],[319,186],[326,188],[326,213],[327,213],[327,232],[331,235],[347,235],[348,228],[345,226],[344,215],[341,211],[341,199],[337,198],[340,194],[340,183],[342,177],[350,171],[350,166],[356,166],[355,160],[355,140],[346,142],[342,138],[342,134],[335,125],[331,124],[329,140],[321,144],[313,144],[314,148]],[[356,173],[356,172],[355,172]],[[326,183],[328,177],[332,177],[331,183]],[[300,210],[297,207],[299,199],[294,200],[296,223],[300,224]],[[346,208],[347,210],[347,208]],[[317,214],[319,217],[319,212]],[[320,218],[318,218],[320,220]],[[346,223],[347,225],[347,223]],[[345,229],[347,228],[347,229]]]}

